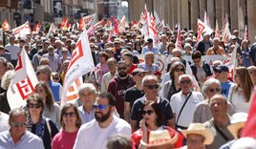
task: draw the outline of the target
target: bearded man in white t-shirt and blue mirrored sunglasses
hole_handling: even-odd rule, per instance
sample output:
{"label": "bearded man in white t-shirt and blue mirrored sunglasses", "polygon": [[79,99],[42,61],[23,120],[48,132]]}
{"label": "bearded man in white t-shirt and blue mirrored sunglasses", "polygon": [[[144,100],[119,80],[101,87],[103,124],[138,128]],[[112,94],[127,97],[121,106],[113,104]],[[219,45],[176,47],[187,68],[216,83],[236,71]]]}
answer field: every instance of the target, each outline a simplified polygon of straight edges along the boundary
{"label": "bearded man in white t-shirt and blue mirrored sunglasses", "polygon": [[97,96],[94,104],[96,118],[80,127],[74,149],[104,149],[109,137],[117,134],[130,137],[131,127],[125,120],[114,115],[115,105],[116,99],[110,93]]}

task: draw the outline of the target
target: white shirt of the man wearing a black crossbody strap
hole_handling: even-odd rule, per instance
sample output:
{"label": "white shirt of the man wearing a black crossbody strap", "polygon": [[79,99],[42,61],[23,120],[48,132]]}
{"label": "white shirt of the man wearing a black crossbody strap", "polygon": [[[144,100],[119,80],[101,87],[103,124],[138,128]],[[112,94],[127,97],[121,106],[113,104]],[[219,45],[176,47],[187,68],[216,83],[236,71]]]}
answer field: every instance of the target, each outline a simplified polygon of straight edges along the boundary
{"label": "white shirt of the man wearing a black crossbody strap", "polygon": [[[189,94],[187,96],[189,96]],[[171,97],[170,103],[171,103],[173,113],[176,114],[176,120],[179,116],[181,107],[184,104],[185,99],[186,99],[186,96],[184,96],[181,92],[179,92]],[[181,112],[179,121],[178,122],[176,121],[176,123],[179,126],[188,127],[189,124],[193,120],[193,114],[194,114],[197,104],[203,100],[204,100],[204,97],[203,97],[202,93],[192,92],[192,95],[188,98],[188,101],[186,102],[186,104]]]}

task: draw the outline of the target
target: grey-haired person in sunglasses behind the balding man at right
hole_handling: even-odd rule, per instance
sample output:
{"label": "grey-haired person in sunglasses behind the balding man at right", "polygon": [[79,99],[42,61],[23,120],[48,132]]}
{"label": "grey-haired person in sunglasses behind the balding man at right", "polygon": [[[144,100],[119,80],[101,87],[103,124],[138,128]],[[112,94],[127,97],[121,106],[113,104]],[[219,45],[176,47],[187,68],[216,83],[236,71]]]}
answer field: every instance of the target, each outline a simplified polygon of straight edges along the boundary
{"label": "grey-haired person in sunglasses behind the balding man at right", "polygon": [[[214,95],[221,94],[221,91],[222,86],[221,82],[218,79],[210,78],[203,83],[202,93],[205,100],[197,105],[193,115],[193,123],[203,123],[212,118],[212,113],[209,105],[210,98]],[[229,107],[227,113],[232,116],[235,111],[233,106],[230,103],[228,104]]]}

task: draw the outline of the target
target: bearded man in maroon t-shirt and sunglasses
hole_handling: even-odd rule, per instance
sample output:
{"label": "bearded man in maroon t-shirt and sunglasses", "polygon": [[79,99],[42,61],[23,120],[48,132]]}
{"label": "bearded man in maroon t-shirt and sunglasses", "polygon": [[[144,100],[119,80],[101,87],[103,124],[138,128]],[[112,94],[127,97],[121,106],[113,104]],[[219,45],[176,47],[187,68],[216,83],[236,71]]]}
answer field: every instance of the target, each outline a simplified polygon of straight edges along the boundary
{"label": "bearded man in maroon t-shirt and sunglasses", "polygon": [[128,74],[128,66],[125,61],[120,60],[117,63],[117,76],[109,82],[107,92],[110,92],[117,99],[117,113],[123,118],[124,111],[124,93],[127,89],[135,85],[133,77]]}

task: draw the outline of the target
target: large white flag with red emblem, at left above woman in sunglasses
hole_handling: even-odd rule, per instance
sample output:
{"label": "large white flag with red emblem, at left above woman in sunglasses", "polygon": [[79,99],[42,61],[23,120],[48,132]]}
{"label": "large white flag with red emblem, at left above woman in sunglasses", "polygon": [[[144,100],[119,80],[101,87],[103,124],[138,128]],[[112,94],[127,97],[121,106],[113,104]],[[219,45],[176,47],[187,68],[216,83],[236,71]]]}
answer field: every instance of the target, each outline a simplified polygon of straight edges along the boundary
{"label": "large white flag with red emblem, at left above woman in sunglasses", "polygon": [[31,60],[23,49],[19,55],[15,73],[7,91],[7,98],[11,109],[24,106],[26,98],[32,95],[34,86],[38,83],[33,71]]}

